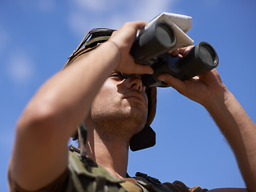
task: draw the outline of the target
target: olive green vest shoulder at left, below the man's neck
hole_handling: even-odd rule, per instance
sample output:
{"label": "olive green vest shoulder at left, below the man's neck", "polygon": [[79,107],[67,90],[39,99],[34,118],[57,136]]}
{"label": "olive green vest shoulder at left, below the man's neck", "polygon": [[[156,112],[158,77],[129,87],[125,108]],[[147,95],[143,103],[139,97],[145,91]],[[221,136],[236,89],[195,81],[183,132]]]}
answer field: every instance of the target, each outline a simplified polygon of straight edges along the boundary
{"label": "olive green vest shoulder at left, below the man's neck", "polygon": [[81,158],[79,149],[71,146],[68,154],[67,191],[95,191],[104,188],[115,191],[125,191],[121,179],[114,178],[104,167],[96,164],[90,158]]}

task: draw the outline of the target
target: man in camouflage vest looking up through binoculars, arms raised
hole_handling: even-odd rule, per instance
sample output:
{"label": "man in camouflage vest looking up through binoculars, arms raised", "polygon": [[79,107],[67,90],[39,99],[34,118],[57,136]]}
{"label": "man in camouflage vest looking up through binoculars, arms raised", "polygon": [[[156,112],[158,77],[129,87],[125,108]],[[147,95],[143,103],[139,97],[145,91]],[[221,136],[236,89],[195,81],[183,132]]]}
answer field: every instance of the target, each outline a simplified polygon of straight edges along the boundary
{"label": "man in camouflage vest looking up through binoculars, arms raised", "polygon": [[[129,142],[148,119],[140,74],[153,71],[136,64],[129,54],[136,31],[145,24],[124,24],[107,42],[76,58],[38,90],[18,120],[9,170],[12,190],[205,191],[189,190],[181,182],[161,184],[147,176],[140,181],[128,178]],[[172,54],[185,55],[188,50]],[[124,78],[119,72],[136,75]],[[184,82],[169,74],[158,78],[205,106],[234,150],[247,189],[210,191],[256,191],[256,126],[217,70]],[[68,152],[67,142],[81,122],[87,126],[87,156],[77,158]]]}

